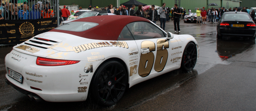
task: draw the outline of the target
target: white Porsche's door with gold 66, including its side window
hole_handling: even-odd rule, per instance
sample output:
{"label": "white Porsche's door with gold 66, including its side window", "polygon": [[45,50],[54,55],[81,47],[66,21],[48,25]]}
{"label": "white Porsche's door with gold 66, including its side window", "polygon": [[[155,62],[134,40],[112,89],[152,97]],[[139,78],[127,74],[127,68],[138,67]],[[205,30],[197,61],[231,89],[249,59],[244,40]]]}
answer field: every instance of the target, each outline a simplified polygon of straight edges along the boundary
{"label": "white Porsche's door with gold 66, including its side window", "polygon": [[140,59],[138,67],[139,77],[156,74],[166,67],[176,65],[171,60],[178,57],[172,55],[179,43],[176,39],[166,38],[166,33],[148,22],[132,22],[127,24],[137,44]]}

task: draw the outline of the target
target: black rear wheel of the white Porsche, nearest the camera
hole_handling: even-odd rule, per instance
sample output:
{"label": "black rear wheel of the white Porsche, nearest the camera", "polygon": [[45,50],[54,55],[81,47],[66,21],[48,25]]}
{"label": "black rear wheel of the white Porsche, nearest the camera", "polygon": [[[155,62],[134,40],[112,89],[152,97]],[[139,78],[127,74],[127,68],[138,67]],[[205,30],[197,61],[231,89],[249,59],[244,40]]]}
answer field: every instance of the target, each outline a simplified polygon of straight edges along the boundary
{"label": "black rear wheel of the white Porsche, nearest the camera", "polygon": [[127,80],[127,72],[120,62],[104,63],[95,73],[90,85],[92,100],[102,106],[116,104],[123,97]]}

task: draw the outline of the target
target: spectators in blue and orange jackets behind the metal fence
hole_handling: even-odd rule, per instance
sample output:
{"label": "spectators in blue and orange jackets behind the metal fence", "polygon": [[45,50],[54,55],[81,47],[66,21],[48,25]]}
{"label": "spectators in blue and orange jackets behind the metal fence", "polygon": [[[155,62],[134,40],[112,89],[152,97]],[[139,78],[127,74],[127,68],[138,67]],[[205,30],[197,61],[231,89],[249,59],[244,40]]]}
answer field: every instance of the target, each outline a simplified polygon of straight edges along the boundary
{"label": "spectators in blue and orange jackets behind the metal fence", "polygon": [[[1,0],[0,0],[0,4]],[[17,3],[5,2],[0,5],[0,20],[27,20],[38,18],[54,17],[54,12],[49,2],[42,3],[38,1],[30,8],[29,3],[24,2],[23,5],[17,7]]]}

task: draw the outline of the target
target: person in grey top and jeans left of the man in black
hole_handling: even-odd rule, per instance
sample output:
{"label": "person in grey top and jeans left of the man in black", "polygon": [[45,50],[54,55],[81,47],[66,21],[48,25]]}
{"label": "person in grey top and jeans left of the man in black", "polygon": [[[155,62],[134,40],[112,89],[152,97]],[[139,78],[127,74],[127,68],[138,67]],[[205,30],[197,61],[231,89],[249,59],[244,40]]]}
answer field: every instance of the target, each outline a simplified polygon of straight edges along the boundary
{"label": "person in grey top and jeans left of the man in black", "polygon": [[159,8],[159,14],[160,14],[160,28],[164,30],[165,28],[165,22],[166,22],[166,8],[165,8],[165,3],[162,4],[162,7]]}

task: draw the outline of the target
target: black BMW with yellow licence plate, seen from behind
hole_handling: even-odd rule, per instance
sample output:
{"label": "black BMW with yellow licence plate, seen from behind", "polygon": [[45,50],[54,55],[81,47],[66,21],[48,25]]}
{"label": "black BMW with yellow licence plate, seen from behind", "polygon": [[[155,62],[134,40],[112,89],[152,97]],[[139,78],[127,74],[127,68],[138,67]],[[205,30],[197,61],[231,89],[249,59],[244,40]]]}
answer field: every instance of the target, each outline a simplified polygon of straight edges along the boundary
{"label": "black BMW with yellow licence plate, seen from behind", "polygon": [[223,36],[250,37],[255,39],[256,27],[252,18],[245,12],[225,12],[217,24],[217,38]]}

